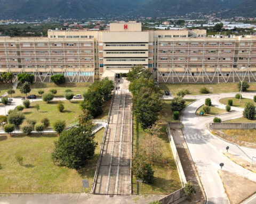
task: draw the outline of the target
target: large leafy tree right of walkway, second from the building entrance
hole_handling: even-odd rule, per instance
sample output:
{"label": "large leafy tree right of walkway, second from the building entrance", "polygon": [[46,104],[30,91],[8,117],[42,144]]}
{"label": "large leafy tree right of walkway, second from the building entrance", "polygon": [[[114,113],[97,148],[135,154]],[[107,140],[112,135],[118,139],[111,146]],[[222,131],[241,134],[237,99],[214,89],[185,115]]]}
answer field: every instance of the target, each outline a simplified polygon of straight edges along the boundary
{"label": "large leafy tree right of walkway, second from the building entrance", "polygon": [[143,88],[137,97],[133,97],[132,111],[143,129],[155,124],[158,120],[158,112],[161,111],[163,104],[161,96],[159,91]]}

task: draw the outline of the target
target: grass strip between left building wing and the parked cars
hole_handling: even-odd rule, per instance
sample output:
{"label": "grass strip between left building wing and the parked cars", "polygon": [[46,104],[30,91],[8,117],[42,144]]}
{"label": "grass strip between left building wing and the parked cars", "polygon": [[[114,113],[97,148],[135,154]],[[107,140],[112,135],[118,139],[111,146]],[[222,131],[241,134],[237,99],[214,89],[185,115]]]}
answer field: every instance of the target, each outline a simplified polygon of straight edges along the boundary
{"label": "grass strip between left building wing and the parked cars", "polygon": [[[59,85],[56,85],[54,83],[32,83],[31,84],[32,90],[28,95],[35,94],[36,96],[40,96],[38,94],[38,90],[44,90],[44,92],[46,93],[50,89],[57,90],[57,94],[55,94],[55,97],[64,97],[64,91],[66,89],[73,90],[74,95],[77,95],[77,94],[82,95],[90,85],[91,83],[64,83]],[[21,87],[21,84],[19,84],[19,86],[15,90],[15,94],[13,94],[12,97],[25,96],[25,94],[20,93],[20,87]],[[11,97],[11,95],[8,95],[8,97]]]}

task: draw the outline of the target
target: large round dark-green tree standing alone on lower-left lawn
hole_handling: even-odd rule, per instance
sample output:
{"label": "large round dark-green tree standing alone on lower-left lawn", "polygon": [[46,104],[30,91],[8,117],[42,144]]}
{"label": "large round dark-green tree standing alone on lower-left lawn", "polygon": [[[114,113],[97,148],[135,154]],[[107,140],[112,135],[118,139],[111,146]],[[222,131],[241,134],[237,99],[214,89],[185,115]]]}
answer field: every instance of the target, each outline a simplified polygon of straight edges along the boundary
{"label": "large round dark-green tree standing alone on lower-left lawn", "polygon": [[54,144],[52,155],[55,161],[75,169],[92,159],[97,146],[92,131],[83,129],[81,126],[63,131]]}

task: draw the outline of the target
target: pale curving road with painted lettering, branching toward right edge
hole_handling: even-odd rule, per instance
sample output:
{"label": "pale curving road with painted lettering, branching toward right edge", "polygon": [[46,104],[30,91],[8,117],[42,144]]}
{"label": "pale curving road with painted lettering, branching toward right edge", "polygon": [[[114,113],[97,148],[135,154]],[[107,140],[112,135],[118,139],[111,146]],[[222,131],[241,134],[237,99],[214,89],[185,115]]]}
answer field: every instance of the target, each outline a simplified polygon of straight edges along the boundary
{"label": "pale curving road with painted lettering, branching toward right edge", "polygon": [[[255,93],[243,93],[242,95],[244,98],[252,99]],[[207,130],[206,125],[213,121],[214,116],[195,116],[197,108],[204,104],[205,98],[211,98],[213,106],[225,109],[226,106],[219,103],[219,99],[234,96],[235,93],[185,97],[186,99],[196,99],[194,103],[191,103],[185,108],[181,117],[181,122],[184,125],[183,134],[187,141],[191,157],[193,158],[199,176],[201,177],[208,200],[207,203],[209,204],[229,203],[223,184],[218,175],[220,163],[224,163],[224,170],[247,177],[247,179],[250,177],[250,180],[256,181],[255,173],[236,165],[222,154],[223,151],[226,151],[226,147],[229,146],[229,152],[231,154],[236,154],[237,156],[250,161],[252,156],[256,156],[256,149],[232,145],[231,143],[212,135],[211,132]],[[220,115],[218,117],[220,117],[222,121],[225,121],[243,116],[243,108],[231,107],[231,109],[235,112]],[[250,203],[256,203],[256,199]]]}

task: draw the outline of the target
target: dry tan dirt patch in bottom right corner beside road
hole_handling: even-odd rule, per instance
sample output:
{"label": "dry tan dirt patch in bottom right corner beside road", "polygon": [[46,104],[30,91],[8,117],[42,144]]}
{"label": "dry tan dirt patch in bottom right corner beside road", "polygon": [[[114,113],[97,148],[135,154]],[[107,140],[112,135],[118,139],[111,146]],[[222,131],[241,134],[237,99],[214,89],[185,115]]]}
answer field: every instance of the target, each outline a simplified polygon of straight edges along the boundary
{"label": "dry tan dirt patch in bottom right corner beside road", "polygon": [[242,176],[224,170],[219,170],[219,175],[230,204],[241,203],[256,191],[256,183]]}

